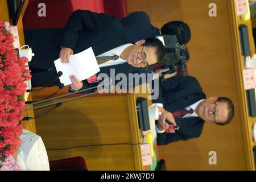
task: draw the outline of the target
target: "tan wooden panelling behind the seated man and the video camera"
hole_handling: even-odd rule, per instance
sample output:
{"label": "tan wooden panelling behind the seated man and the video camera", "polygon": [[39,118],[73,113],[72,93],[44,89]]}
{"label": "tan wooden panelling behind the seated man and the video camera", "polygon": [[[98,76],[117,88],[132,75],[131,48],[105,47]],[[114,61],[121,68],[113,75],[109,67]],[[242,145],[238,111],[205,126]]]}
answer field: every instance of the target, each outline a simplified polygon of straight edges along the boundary
{"label": "tan wooden panelling behind the seated man and the video camera", "polygon": [[[227,126],[205,124],[200,138],[159,146],[168,170],[245,170],[238,85],[234,71],[228,1],[232,0],[127,0],[128,13],[146,11],[151,23],[161,27],[170,20],[189,24],[192,38],[189,75],[195,76],[208,97],[227,96],[236,114]],[[209,3],[216,3],[217,17],[209,17]],[[209,151],[217,152],[217,165],[208,163]]]}

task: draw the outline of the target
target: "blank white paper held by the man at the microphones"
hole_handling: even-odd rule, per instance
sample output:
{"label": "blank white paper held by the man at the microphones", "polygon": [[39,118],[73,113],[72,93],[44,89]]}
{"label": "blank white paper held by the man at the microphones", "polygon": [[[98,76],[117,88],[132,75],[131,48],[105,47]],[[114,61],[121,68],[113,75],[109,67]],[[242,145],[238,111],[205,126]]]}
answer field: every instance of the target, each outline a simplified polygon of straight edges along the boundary
{"label": "blank white paper held by the man at the microphones", "polygon": [[63,73],[60,82],[65,86],[72,84],[70,76],[75,75],[80,81],[100,71],[92,47],[69,57],[69,64],[62,64],[60,58],[54,61],[57,72]]}

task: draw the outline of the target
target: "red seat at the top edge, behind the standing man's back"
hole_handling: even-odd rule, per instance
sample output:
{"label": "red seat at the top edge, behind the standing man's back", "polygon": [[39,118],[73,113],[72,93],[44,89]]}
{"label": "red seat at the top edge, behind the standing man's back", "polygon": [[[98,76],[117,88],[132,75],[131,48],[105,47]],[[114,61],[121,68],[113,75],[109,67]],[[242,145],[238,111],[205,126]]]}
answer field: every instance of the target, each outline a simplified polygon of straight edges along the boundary
{"label": "red seat at the top edge, behind the standing man's back", "polygon": [[[39,17],[39,3],[46,5],[46,16]],[[69,16],[77,9],[123,18],[127,15],[125,0],[30,0],[23,17],[23,28],[63,28]]]}

